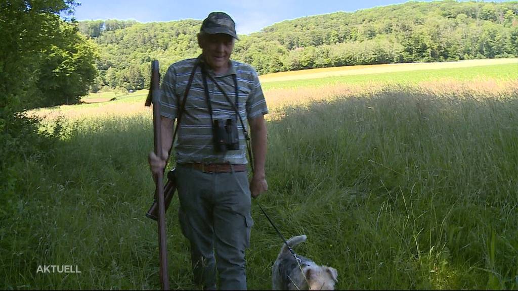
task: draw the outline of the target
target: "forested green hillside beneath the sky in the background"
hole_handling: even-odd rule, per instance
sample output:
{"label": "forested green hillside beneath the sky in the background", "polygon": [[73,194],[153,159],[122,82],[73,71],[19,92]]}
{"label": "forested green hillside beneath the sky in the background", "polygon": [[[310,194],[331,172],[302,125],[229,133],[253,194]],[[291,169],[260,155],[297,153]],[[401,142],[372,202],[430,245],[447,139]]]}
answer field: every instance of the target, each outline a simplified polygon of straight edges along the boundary
{"label": "forested green hillside beneath the sky in the background", "polygon": [[[100,50],[103,87],[138,90],[149,61],[167,66],[200,53],[202,21],[81,21]],[[283,21],[240,35],[233,59],[260,74],[347,65],[442,62],[518,56],[518,2],[408,2]]]}

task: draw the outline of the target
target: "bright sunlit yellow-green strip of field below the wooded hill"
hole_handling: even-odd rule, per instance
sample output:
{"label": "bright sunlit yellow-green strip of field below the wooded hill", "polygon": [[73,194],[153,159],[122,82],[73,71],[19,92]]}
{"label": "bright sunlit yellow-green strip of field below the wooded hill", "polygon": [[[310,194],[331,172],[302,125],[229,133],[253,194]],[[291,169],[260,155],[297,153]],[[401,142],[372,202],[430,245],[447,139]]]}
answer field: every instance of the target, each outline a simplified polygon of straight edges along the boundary
{"label": "bright sunlit yellow-green strip of field below the wooded hill", "polygon": [[[266,78],[262,81],[262,87],[266,100],[270,108],[277,106],[306,104],[306,101],[322,100],[342,94],[344,91],[362,91],[373,88],[381,88],[391,84],[426,84],[435,86],[436,83],[478,83],[487,84],[493,88],[501,86],[509,80],[518,79],[518,59],[497,59],[497,60],[472,60],[461,62],[463,66],[476,65],[461,68],[444,68],[443,63],[415,64],[415,70],[405,70],[395,72],[383,72],[377,74],[362,74],[362,70],[380,71],[379,67],[400,66],[405,69],[412,68],[413,64],[393,64],[393,65],[371,65],[371,66],[350,66],[340,68],[312,69],[305,71],[283,72],[262,76]],[[491,65],[496,63],[494,65]],[[501,63],[501,64],[499,64]],[[481,65],[484,64],[484,65]],[[449,66],[458,66],[452,63]],[[442,67],[438,69],[430,69]],[[335,76],[327,78],[307,79],[307,77],[322,74],[322,72],[356,71],[359,75]],[[290,78],[287,81],[271,81],[276,76]],[[293,80],[294,77],[298,79]],[[324,94],[322,94],[324,93]],[[114,94],[113,92],[99,94]],[[107,98],[112,95],[91,94],[88,98]],[[91,117],[102,117],[104,115],[135,115],[146,114],[149,108],[143,106],[148,90],[139,90],[134,93],[117,97],[117,100],[79,105],[63,105],[52,108],[40,108],[31,110],[28,113],[42,118],[56,119],[63,116],[67,119],[88,119]],[[102,97],[101,97],[102,96]]]}

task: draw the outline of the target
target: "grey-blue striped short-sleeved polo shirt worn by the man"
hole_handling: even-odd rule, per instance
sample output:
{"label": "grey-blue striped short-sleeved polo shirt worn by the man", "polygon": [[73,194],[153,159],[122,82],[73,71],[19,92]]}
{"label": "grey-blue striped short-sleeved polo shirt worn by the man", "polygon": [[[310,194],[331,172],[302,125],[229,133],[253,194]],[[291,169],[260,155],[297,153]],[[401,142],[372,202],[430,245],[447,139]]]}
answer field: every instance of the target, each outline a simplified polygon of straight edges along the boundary
{"label": "grey-blue striped short-sleeved polo shirt worn by the man", "polygon": [[[187,59],[174,63],[167,69],[161,84],[160,105],[162,116],[171,119],[177,118],[177,110],[180,108],[196,60],[201,63],[204,62],[202,55],[200,55],[197,59]],[[222,76],[216,76],[209,66],[205,67],[208,74],[220,84],[233,103],[236,100],[233,75],[236,75],[238,111],[248,132],[247,119],[256,118],[260,114],[267,114],[268,108],[266,107],[261,83],[254,68],[236,61],[229,62],[232,63],[232,66]],[[207,77],[207,86],[212,106],[212,118],[214,120],[236,118],[239,150],[224,153],[214,150],[210,111],[205,97],[202,71],[198,65],[185,101],[185,110],[182,113],[177,140],[174,145],[177,163],[247,164],[246,140],[235,110],[209,77]]]}

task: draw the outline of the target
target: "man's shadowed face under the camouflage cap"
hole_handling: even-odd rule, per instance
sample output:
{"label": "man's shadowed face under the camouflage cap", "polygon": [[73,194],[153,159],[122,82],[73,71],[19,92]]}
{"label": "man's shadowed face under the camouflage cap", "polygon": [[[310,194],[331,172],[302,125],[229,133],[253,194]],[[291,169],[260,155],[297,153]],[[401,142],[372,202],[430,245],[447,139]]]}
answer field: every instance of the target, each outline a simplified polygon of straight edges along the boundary
{"label": "man's shadowed face under the camouflage cap", "polygon": [[228,34],[205,34],[198,37],[199,46],[203,50],[205,61],[214,70],[226,69],[228,59],[234,49],[234,38]]}

